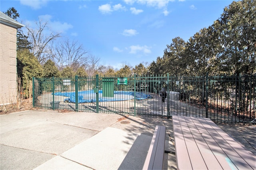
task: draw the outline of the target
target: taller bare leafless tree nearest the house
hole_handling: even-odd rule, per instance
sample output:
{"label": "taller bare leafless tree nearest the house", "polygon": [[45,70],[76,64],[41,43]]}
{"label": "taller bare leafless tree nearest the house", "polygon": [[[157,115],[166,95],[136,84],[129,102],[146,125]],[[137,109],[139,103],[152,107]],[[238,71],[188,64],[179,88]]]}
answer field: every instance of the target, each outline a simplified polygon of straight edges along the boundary
{"label": "taller bare leafless tree nearest the house", "polygon": [[36,22],[37,28],[33,29],[26,26],[28,30],[28,40],[31,43],[31,51],[36,57],[40,64],[44,64],[49,58],[50,47],[48,46],[50,42],[54,39],[60,37],[60,33],[47,32],[50,31],[48,23],[42,23],[41,20]]}

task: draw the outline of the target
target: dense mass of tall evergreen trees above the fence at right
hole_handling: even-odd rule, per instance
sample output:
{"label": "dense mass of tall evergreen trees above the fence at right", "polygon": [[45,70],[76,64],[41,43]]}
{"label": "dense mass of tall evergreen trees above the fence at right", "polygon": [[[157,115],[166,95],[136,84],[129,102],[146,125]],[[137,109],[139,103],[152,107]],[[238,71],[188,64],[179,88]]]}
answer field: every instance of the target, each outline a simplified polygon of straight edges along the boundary
{"label": "dense mass of tall evergreen trees above the fence at right", "polygon": [[209,75],[256,73],[256,1],[234,1],[221,17],[185,42],[172,39],[150,74]]}

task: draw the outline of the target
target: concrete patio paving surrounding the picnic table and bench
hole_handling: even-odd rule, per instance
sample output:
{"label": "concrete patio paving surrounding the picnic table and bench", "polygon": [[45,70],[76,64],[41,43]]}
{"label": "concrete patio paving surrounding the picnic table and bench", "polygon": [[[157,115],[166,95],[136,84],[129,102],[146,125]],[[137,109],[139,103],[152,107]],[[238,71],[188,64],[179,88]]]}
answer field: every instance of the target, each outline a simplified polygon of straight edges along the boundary
{"label": "concrete patio paving surrounding the picnic table and bench", "polygon": [[[142,169],[156,125],[166,126],[171,151],[164,169],[176,169],[170,119],[52,110],[0,115],[0,169]],[[219,126],[256,154],[255,126]]]}

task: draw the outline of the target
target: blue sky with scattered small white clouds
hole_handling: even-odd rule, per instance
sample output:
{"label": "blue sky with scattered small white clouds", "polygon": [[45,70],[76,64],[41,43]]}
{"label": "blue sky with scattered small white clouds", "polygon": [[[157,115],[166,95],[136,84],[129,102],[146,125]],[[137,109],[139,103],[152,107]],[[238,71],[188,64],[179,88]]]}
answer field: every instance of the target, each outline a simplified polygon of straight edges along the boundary
{"label": "blue sky with scattered small white clouds", "polygon": [[120,69],[156,61],[175,37],[188,41],[220,18],[232,0],[0,0],[18,21],[47,21],[62,38],[77,41],[99,64]]}

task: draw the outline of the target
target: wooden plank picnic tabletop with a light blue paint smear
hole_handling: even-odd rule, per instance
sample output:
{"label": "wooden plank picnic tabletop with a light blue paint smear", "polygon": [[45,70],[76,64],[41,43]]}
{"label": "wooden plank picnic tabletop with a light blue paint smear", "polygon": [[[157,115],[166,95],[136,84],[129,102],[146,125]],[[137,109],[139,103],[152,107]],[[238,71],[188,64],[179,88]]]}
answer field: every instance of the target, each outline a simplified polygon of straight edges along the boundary
{"label": "wooden plank picnic tabletop with a light blue paint smear", "polygon": [[256,170],[256,156],[208,118],[172,116],[177,169]]}

